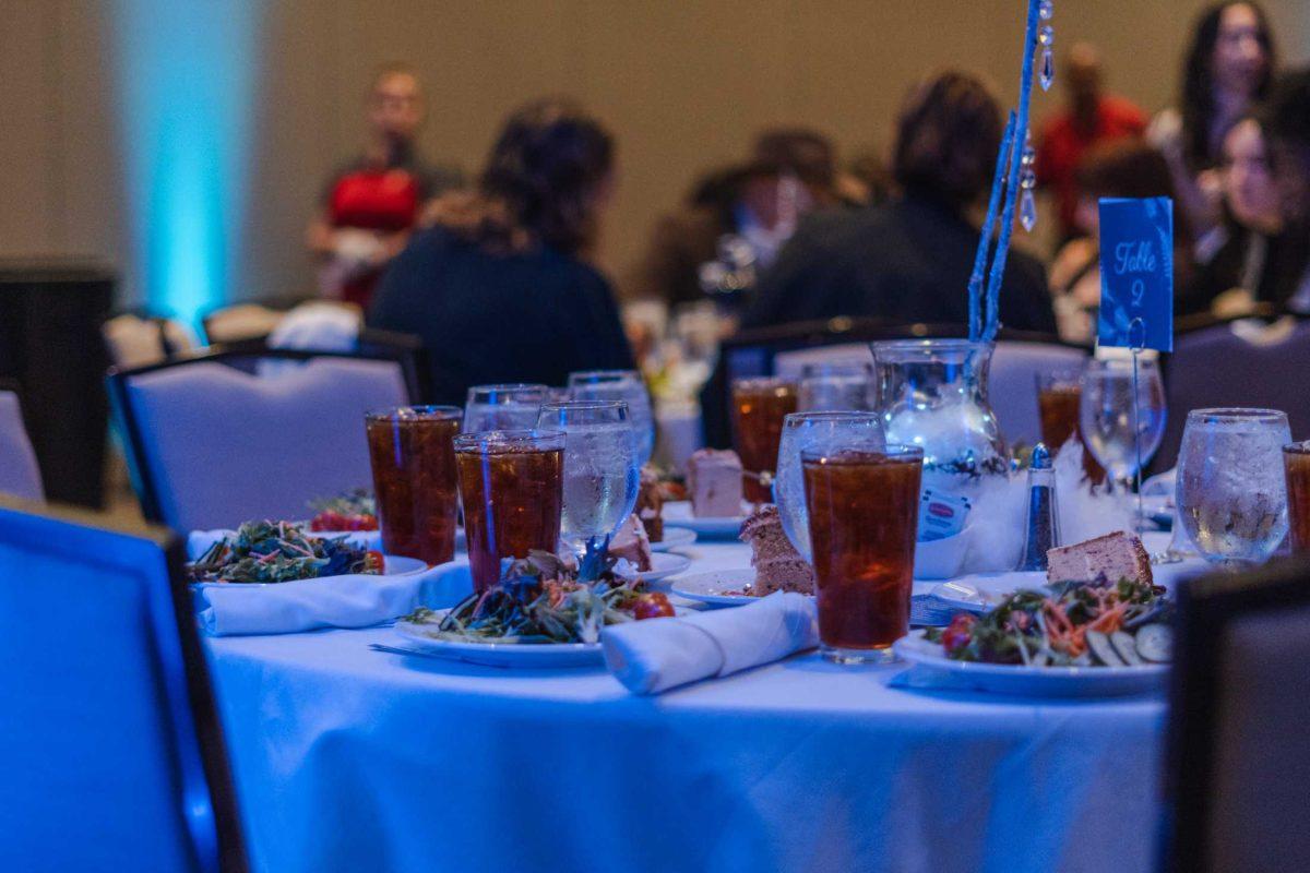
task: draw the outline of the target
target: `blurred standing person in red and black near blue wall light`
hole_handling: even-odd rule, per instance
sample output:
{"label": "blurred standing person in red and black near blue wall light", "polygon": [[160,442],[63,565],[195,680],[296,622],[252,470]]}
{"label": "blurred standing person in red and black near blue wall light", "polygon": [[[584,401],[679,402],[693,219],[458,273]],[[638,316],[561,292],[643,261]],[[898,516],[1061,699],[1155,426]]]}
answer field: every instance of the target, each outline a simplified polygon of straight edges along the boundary
{"label": "blurred standing person in red and black near blue wall light", "polygon": [[320,293],[359,306],[368,306],[383,270],[405,247],[423,208],[464,183],[457,168],[428,166],[417,153],[423,94],[409,67],[380,69],[365,107],[364,153],[333,173],[305,234],[320,266]]}

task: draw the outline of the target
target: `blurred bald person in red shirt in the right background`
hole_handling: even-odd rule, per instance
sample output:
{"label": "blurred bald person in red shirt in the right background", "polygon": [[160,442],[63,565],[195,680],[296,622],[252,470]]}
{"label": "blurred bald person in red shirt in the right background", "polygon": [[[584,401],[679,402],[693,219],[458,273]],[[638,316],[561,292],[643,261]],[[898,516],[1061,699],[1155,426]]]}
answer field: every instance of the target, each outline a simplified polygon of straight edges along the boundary
{"label": "blurred bald person in red shirt in the right background", "polygon": [[1093,145],[1124,136],[1141,136],[1146,115],[1131,101],[1104,93],[1100,52],[1089,43],[1076,43],[1064,64],[1064,84],[1069,106],[1049,116],[1038,140],[1038,185],[1056,199],[1060,237],[1070,240],[1087,233],[1078,226],[1077,169]]}

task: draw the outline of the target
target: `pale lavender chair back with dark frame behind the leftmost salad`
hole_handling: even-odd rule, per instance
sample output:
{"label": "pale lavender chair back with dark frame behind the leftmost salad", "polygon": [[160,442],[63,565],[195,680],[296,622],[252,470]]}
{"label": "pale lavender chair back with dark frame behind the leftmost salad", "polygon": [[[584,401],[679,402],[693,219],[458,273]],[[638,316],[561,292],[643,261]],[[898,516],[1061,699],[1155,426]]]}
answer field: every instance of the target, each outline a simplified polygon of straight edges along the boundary
{"label": "pale lavender chair back with dark frame behind the leftmost salad", "polygon": [[[301,361],[262,377],[254,359]],[[314,497],[372,482],[364,412],[410,403],[394,360],[219,351],[111,372],[145,517],[176,530],[303,518]]]}

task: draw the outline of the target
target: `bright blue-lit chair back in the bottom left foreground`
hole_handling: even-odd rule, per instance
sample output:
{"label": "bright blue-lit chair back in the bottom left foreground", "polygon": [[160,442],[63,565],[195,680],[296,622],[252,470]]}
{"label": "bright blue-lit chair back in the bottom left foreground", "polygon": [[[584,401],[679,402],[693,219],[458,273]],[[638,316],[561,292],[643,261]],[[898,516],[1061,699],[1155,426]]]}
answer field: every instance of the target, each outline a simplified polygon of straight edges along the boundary
{"label": "bright blue-lit chair back in the bottom left foreground", "polygon": [[0,500],[0,869],[245,870],[178,541]]}

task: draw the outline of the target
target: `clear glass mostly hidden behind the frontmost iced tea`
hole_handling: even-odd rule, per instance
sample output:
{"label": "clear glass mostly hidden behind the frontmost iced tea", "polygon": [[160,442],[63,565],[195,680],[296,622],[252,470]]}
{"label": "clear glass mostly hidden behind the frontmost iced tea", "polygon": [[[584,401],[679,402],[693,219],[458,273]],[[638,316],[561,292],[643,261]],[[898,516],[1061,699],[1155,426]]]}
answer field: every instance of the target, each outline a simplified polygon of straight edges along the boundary
{"label": "clear glass mostly hidden behind the frontmost iced tea", "polygon": [[806,560],[812,559],[800,454],[828,450],[836,445],[882,452],[884,448],[882,416],[876,412],[793,412],[782,420],[773,501],[778,504],[783,533]]}

